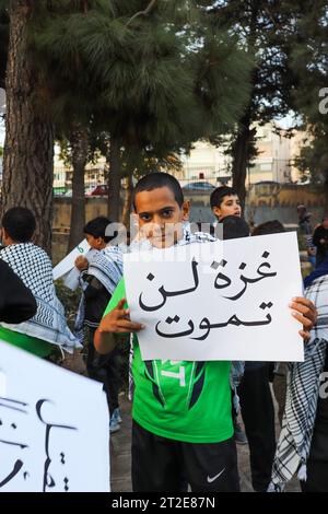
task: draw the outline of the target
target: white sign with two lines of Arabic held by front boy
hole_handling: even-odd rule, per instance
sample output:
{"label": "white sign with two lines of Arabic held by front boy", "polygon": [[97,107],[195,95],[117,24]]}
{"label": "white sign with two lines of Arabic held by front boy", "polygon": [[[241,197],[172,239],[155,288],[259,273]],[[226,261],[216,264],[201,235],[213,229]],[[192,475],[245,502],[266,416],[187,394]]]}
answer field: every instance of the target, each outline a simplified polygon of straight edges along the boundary
{"label": "white sign with two lines of Arabic held by front boy", "polygon": [[304,359],[295,233],[127,254],[125,282],[143,360]]}

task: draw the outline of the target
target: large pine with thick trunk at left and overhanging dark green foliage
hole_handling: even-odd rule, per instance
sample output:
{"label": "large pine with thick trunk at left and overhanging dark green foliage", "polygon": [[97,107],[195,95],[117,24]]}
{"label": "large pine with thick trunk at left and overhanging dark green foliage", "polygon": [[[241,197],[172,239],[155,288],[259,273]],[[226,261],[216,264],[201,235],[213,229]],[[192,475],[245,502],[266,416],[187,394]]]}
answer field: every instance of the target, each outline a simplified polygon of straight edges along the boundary
{"label": "large pine with thick trunk at left and overhanging dark green foliage", "polygon": [[[17,33],[20,22],[24,37],[19,48],[12,37],[9,49],[4,207],[32,207],[39,223],[37,241],[48,249],[54,125],[74,142],[80,172],[90,126],[108,135],[109,207],[117,219],[122,152],[168,155],[199,138],[227,132],[241,116],[249,62],[235,38],[208,23],[202,3],[11,2],[11,31]],[[25,96],[16,94],[13,83],[22,59]],[[17,125],[21,97],[28,112]]]}

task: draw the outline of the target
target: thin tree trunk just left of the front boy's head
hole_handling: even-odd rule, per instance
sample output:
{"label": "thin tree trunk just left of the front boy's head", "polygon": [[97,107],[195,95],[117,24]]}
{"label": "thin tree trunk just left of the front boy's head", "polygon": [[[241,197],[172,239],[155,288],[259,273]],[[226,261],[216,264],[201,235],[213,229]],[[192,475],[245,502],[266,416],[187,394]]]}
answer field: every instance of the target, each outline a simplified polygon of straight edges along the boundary
{"label": "thin tree trunk just left of the front boy's head", "polygon": [[108,157],[108,218],[113,222],[118,222],[120,210],[120,143],[114,137],[110,138]]}

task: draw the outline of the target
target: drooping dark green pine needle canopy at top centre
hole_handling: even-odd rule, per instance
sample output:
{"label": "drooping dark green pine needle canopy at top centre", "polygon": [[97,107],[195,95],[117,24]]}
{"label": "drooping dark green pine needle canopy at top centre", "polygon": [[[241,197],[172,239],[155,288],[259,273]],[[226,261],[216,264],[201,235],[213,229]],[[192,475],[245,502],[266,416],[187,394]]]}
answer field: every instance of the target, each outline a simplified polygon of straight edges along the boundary
{"label": "drooping dark green pine needle canopy at top centre", "polygon": [[57,122],[93,119],[124,145],[169,151],[229,130],[242,113],[249,62],[197,2],[160,0],[137,17],[144,2],[45,4],[31,43]]}

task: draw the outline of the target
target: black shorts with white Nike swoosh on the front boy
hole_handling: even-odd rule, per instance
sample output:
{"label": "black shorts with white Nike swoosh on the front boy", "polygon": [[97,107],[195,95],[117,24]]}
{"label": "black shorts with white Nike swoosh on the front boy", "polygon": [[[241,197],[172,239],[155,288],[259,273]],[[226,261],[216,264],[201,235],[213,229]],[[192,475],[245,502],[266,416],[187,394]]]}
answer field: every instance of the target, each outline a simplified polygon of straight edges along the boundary
{"label": "black shorts with white Nike swoosh on the front boy", "polygon": [[132,425],[134,492],[239,492],[234,440],[183,443]]}

